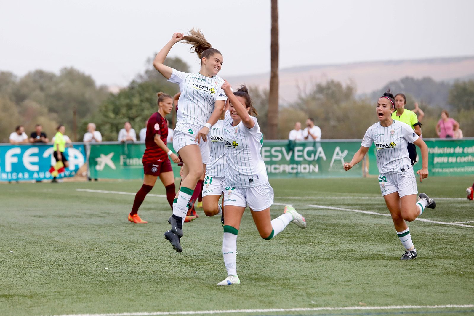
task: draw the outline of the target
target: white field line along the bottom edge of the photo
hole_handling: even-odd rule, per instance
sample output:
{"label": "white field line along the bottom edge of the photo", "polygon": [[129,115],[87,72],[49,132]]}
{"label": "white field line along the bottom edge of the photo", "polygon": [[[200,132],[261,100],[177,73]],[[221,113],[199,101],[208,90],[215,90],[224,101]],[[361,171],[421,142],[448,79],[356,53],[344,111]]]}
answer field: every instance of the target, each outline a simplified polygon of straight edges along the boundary
{"label": "white field line along the bottom edge of the photo", "polygon": [[299,307],[299,308],[267,308],[267,309],[227,309],[227,310],[196,310],[177,312],[137,312],[116,314],[64,314],[55,316],[153,316],[153,315],[201,315],[201,314],[228,314],[228,313],[273,313],[273,312],[307,312],[325,310],[387,310],[387,309],[442,309],[442,308],[469,308],[474,305],[394,305],[394,306],[354,306],[354,307]]}

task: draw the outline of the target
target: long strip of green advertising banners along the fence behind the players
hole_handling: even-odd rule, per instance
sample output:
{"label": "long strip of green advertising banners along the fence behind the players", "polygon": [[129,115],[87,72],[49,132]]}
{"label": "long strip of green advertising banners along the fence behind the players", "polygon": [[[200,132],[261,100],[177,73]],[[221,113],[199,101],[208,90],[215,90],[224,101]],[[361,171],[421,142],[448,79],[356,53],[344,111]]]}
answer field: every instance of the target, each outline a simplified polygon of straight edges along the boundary
{"label": "long strip of green advertising banners along the fence behind the players", "polygon": [[[474,139],[426,139],[425,142],[431,176],[474,174]],[[378,176],[375,146],[369,149],[365,161],[348,172],[342,169],[343,163],[350,161],[360,148],[360,143],[360,140],[264,141],[261,153],[269,178],[362,177],[363,169],[368,170],[365,174]],[[168,147],[173,150],[172,144]],[[88,153],[91,178],[143,179],[144,151],[145,144],[140,143],[91,144]],[[171,164],[174,176],[179,177],[180,167]],[[421,162],[415,165],[415,171],[418,166],[421,167]]]}

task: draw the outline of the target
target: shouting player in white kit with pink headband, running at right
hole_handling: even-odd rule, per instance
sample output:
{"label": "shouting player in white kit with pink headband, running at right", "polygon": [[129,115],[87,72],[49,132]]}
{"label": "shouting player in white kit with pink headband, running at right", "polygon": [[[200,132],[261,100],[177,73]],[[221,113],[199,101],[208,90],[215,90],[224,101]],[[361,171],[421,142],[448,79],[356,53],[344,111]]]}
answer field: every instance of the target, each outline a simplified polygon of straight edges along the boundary
{"label": "shouting player in white kit with pink headband, running at right", "polygon": [[425,193],[420,193],[418,202],[416,200],[418,188],[407,143],[414,143],[421,150],[422,167],[417,172],[420,182],[428,177],[428,146],[411,126],[392,119],[394,110],[395,100],[389,90],[380,97],[375,108],[379,122],[367,129],[362,146],[350,163],[344,163],[344,170],[360,163],[369,147],[375,143],[380,190],[392,215],[397,235],[406,249],[400,259],[410,260],[417,257],[417,252],[405,221],[414,221],[425,208],[436,208],[436,203]]}

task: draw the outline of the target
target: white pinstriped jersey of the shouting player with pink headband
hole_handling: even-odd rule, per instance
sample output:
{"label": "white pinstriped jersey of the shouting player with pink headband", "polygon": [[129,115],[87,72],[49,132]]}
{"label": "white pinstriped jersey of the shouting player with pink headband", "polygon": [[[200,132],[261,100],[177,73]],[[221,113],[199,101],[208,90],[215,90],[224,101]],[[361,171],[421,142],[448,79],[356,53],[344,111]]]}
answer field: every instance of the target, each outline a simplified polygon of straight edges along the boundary
{"label": "white pinstriped jersey of the shouting player with pink headband", "polygon": [[380,173],[403,173],[411,168],[407,144],[418,139],[409,125],[393,120],[391,126],[383,127],[379,123],[370,126],[365,132],[362,146],[377,148],[377,167]]}

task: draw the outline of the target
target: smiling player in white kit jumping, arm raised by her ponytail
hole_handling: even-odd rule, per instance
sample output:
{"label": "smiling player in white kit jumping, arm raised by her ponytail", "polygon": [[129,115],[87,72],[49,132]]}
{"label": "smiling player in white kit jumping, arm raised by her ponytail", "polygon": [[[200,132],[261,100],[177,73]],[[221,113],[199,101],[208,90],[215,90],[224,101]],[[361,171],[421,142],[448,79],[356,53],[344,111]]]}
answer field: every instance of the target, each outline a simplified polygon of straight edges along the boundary
{"label": "smiling player in white kit jumping, arm raised by her ponytail", "polygon": [[[168,81],[179,84],[181,95],[177,112],[176,127],[173,132],[173,147],[184,163],[181,188],[173,202],[173,215],[168,219],[171,229],[164,233],[177,252],[182,252],[180,239],[183,235],[182,221],[188,212],[196,183],[209,163],[210,142],[207,135],[216,124],[227,99],[221,89],[224,82],[217,76],[222,67],[222,54],[206,41],[202,33],[192,29],[189,36],[174,33],[153,61],[153,66]],[[201,69],[197,73],[179,72],[164,65],[164,59],[174,44],[184,40],[201,59]]]}

